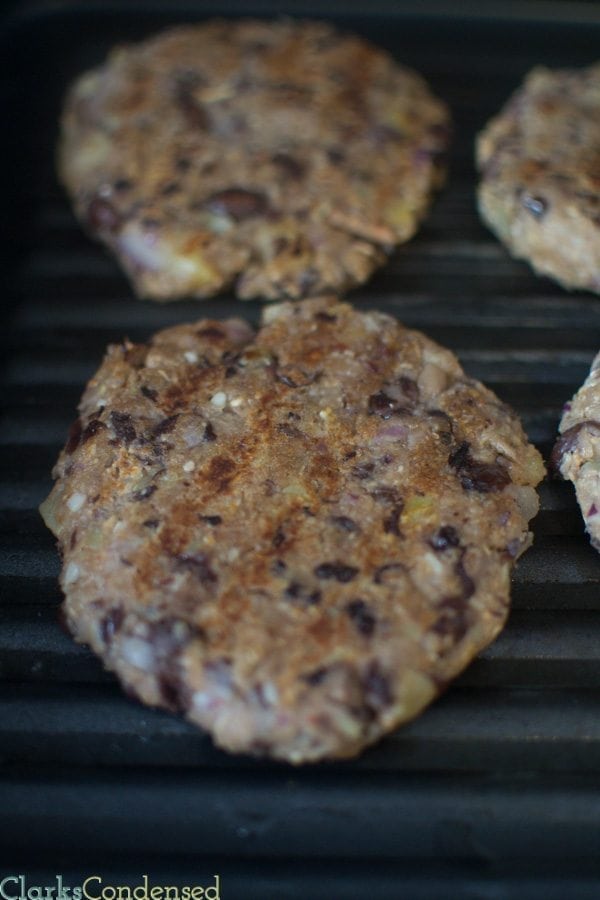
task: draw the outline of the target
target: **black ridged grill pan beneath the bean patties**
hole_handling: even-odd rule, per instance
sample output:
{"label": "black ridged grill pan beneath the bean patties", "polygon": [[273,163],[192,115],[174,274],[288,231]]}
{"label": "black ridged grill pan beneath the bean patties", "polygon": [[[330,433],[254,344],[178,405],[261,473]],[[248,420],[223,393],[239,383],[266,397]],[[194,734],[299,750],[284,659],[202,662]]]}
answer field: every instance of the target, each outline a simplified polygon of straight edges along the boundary
{"label": "black ridged grill pan beneath the bean patties", "polygon": [[13,6],[0,25],[0,878],[202,885],[218,873],[225,900],[600,896],[600,557],[570,484],[541,486],[500,638],[412,724],[357,760],[302,769],[228,756],[127,698],[61,630],[59,558],[37,513],[109,342],[202,315],[258,321],[259,303],[231,296],[133,299],[53,169],[78,72],[119,41],[215,14],[330,18],[415,66],[449,103],[446,187],[418,236],[349,297],[450,347],[547,459],[600,345],[600,299],[535,276],[480,223],[472,148],[534,64],[596,59],[598,6]]}

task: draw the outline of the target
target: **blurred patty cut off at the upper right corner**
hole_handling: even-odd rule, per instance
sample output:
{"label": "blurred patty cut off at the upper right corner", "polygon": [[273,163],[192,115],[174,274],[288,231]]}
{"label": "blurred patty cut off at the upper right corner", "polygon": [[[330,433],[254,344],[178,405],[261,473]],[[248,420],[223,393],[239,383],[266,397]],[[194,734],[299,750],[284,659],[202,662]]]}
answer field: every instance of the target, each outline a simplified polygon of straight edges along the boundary
{"label": "blurred patty cut off at the upper right corner", "polygon": [[600,292],[600,64],[536,68],[477,145],[483,219],[514,256]]}

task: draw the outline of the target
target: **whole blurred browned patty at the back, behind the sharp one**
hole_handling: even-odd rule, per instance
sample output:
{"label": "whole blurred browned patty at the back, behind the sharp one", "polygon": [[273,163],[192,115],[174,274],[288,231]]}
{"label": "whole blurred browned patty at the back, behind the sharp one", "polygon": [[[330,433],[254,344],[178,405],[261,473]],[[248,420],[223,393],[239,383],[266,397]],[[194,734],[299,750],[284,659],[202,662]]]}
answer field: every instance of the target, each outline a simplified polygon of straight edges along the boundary
{"label": "whole blurred browned patty at the back, behind the sharp one", "polygon": [[446,107],[383,50],[253,20],[115,50],[62,126],[77,216],[154,300],[361,284],[416,231],[449,136]]}

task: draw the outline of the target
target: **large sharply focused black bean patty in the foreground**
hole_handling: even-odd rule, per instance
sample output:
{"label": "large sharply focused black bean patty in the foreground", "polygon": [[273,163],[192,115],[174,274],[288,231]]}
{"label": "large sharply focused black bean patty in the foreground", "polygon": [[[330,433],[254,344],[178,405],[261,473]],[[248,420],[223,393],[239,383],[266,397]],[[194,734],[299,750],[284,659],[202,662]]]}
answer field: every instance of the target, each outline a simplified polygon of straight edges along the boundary
{"label": "large sharply focused black bean patty in the foreground", "polygon": [[495,637],[543,473],[449,351],[329,297],[110,347],[42,513],[68,624],[130,691],[298,763]]}

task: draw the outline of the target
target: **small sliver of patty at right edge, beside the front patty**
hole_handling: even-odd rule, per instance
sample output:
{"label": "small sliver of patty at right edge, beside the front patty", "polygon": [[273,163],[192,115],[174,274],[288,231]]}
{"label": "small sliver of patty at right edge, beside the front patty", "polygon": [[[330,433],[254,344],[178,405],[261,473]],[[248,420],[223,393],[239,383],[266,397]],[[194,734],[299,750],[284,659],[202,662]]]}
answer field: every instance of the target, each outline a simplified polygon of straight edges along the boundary
{"label": "small sliver of patty at right edge, beside the front patty", "polygon": [[565,404],[559,431],[553,468],[575,485],[592,546],[600,551],[600,353],[584,384]]}

